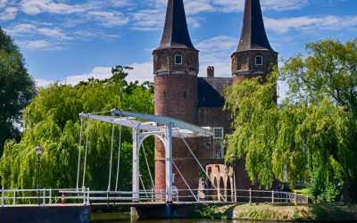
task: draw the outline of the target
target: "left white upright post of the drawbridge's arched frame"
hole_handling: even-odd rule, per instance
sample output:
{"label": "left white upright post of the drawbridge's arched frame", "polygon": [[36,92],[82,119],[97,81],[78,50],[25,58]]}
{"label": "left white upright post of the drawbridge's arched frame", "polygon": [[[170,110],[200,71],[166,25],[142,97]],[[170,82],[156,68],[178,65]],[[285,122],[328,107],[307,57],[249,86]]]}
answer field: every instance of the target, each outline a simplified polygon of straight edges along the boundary
{"label": "left white upright post of the drawbridge's arched frame", "polygon": [[139,148],[138,128],[133,128],[133,202],[139,201]]}

